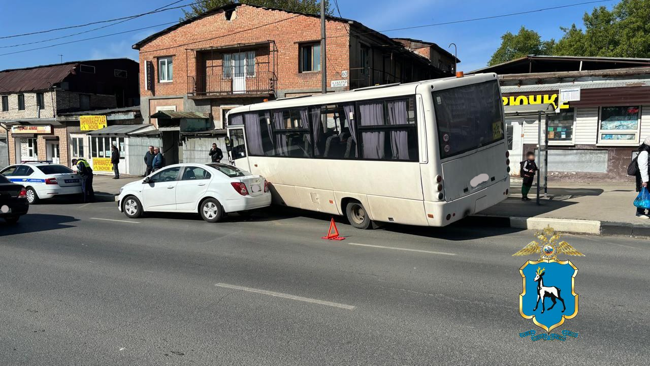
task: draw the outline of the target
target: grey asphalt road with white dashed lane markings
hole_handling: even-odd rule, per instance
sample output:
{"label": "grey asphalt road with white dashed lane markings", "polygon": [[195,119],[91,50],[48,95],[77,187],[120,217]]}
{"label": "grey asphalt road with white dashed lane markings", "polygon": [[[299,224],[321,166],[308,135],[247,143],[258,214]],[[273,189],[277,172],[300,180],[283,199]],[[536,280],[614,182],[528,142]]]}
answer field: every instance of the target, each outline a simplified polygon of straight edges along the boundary
{"label": "grey asphalt road with white dashed lane markings", "polygon": [[[0,223],[0,365],[642,365],[650,242],[567,236],[586,257],[567,341],[519,315],[530,231],[40,204]],[[109,221],[116,220],[116,221]],[[361,244],[361,245],[359,245]]]}

